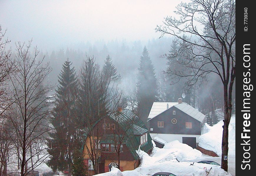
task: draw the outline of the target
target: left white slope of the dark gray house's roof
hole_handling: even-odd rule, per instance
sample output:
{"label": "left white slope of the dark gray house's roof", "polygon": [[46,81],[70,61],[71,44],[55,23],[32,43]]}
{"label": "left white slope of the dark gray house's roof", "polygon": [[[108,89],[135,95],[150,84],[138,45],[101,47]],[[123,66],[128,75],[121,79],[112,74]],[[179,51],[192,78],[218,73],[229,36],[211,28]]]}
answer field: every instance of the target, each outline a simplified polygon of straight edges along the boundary
{"label": "left white slope of the dark gray house's roof", "polygon": [[158,114],[161,114],[163,111],[167,109],[167,104],[169,105],[169,108],[170,108],[178,104],[178,102],[154,102],[149,112],[148,118],[151,119],[157,116]]}

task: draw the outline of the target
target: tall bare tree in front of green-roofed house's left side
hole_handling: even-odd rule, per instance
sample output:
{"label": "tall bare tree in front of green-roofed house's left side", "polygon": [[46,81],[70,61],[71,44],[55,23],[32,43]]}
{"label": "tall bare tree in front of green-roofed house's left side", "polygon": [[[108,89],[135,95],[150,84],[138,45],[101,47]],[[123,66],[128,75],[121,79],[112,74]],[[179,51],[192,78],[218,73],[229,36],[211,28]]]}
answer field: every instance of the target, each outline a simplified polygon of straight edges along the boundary
{"label": "tall bare tree in front of green-roofed house's left side", "polygon": [[[104,74],[95,63],[94,56],[87,56],[84,66],[80,70],[79,97],[77,108],[79,111],[77,122],[82,134],[92,165],[94,174],[99,173],[100,140],[103,138],[102,127],[95,123],[107,116],[113,109],[117,109],[121,100],[121,92],[111,83],[111,75]],[[86,141],[88,139],[88,141]]]}

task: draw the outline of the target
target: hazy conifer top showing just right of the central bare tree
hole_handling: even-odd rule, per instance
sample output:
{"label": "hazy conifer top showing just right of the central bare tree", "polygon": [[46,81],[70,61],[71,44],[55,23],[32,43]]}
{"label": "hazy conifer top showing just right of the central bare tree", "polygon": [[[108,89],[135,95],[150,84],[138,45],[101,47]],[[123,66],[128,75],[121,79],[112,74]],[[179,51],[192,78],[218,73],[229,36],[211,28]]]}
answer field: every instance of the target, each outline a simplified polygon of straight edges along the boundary
{"label": "hazy conifer top showing just right of the central bare tree", "polygon": [[117,75],[117,68],[114,66],[112,62],[112,58],[107,55],[106,60],[104,61],[104,65],[102,68],[103,72],[111,76],[111,80],[118,82],[121,80],[121,75]]}

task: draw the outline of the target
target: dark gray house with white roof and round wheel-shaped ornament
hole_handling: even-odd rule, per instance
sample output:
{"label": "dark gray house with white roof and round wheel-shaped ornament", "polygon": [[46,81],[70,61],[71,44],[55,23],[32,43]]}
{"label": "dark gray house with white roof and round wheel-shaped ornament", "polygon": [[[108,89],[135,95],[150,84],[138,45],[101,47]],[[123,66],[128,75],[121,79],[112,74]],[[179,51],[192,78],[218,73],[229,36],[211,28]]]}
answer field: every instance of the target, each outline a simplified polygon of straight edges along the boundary
{"label": "dark gray house with white roof and round wheel-shaped ornament", "polygon": [[154,102],[148,116],[150,136],[164,141],[178,140],[196,148],[205,115],[182,102]]}

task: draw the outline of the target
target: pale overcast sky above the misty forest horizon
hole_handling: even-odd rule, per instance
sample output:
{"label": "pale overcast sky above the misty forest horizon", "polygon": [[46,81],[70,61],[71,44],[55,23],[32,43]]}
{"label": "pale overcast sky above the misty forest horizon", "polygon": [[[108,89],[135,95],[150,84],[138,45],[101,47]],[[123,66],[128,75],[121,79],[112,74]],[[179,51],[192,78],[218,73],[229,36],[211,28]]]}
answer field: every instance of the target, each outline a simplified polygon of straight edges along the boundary
{"label": "pale overcast sky above the misty forest horizon", "polygon": [[39,47],[96,40],[158,38],[156,25],[173,15],[179,0],[0,1],[0,23],[14,41]]}

